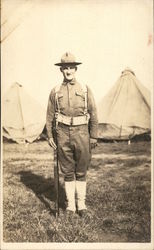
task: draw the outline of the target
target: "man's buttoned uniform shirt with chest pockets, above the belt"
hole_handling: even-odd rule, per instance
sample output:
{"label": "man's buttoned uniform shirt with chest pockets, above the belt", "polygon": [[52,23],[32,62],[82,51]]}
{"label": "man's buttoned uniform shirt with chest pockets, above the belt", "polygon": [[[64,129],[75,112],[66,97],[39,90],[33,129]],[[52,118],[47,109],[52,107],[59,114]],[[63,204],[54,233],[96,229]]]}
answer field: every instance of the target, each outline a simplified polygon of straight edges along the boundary
{"label": "man's buttoned uniform shirt with chest pockets, above the belt", "polygon": [[[87,87],[87,108],[90,115],[89,120],[89,133],[90,138],[97,138],[98,119],[95,101],[91,90]],[[84,115],[85,108],[85,93],[82,89],[82,85],[75,79],[69,83],[65,81],[61,84],[58,93],[58,103],[60,112],[66,116],[81,116]],[[47,107],[46,115],[46,128],[48,138],[53,137],[53,120],[56,112],[55,103],[55,88],[52,89]]]}

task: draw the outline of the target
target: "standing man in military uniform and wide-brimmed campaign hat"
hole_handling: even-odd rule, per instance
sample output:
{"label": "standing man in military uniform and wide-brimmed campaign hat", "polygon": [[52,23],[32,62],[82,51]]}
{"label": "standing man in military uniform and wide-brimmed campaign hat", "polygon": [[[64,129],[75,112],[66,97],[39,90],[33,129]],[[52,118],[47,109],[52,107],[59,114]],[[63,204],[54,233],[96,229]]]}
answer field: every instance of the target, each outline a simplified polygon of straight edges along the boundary
{"label": "standing man in military uniform and wide-brimmed campaign hat", "polygon": [[[64,175],[68,201],[67,214],[87,213],[86,175],[91,160],[91,148],[97,145],[97,113],[94,98],[88,86],[76,78],[77,65],[74,55],[65,53],[60,63],[63,83],[52,89],[47,108],[46,127],[49,145],[58,150],[61,172]],[[56,119],[57,145],[53,135]],[[75,193],[77,203],[75,201]],[[77,204],[77,208],[76,208]]]}

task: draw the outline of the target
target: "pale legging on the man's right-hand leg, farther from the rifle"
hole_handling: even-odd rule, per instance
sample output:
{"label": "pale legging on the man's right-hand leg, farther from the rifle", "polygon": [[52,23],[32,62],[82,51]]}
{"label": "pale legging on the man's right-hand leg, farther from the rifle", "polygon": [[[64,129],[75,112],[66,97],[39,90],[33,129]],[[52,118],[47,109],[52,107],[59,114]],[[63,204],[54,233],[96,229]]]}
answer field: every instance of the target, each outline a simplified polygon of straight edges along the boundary
{"label": "pale legging on the man's right-hand leg, farther from the rifle", "polygon": [[76,193],[77,193],[77,207],[80,214],[81,211],[85,211],[85,199],[86,199],[86,181],[76,181]]}

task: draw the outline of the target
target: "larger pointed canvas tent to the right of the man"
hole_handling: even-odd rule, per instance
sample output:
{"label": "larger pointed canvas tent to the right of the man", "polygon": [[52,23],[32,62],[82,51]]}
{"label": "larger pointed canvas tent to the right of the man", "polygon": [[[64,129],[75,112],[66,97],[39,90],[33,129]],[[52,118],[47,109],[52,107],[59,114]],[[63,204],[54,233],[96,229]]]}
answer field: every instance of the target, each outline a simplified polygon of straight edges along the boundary
{"label": "larger pointed canvas tent to the right of the man", "polygon": [[98,104],[99,138],[130,139],[150,132],[150,91],[125,69],[116,84]]}

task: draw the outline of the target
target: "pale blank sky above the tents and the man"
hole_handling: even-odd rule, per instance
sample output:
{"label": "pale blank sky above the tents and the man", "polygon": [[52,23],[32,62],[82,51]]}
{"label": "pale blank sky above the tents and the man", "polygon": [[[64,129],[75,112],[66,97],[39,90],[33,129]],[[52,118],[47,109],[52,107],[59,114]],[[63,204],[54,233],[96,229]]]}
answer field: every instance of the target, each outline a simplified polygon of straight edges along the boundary
{"label": "pale blank sky above the tents and the man", "polygon": [[2,0],[2,95],[18,82],[44,107],[66,52],[99,102],[126,67],[152,91],[152,0]]}

